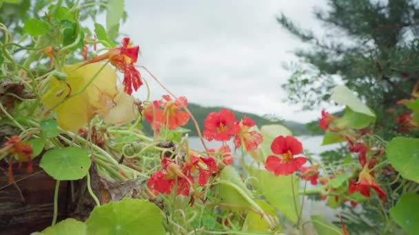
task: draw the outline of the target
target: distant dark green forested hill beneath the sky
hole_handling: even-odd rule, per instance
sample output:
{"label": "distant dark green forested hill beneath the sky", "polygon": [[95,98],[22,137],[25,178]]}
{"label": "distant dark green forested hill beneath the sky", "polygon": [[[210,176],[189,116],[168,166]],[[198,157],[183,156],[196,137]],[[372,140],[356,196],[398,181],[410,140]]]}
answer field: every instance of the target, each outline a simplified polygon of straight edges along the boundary
{"label": "distant dark green forested hill beneath the sky", "polygon": [[[187,104],[187,108],[191,111],[192,114],[194,114],[194,117],[196,118],[196,121],[198,122],[201,130],[203,130],[204,120],[205,120],[205,117],[207,117],[208,113],[218,112],[221,109],[225,109],[225,107],[203,107],[199,104],[193,104],[193,103]],[[287,128],[289,128],[289,130],[292,131],[294,135],[309,135],[310,134],[306,125],[302,123],[284,121],[284,120],[271,121],[265,117],[256,115],[254,113],[245,113],[245,112],[236,111],[232,109],[229,109],[229,110],[231,110],[234,113],[234,115],[236,116],[236,120],[241,120],[244,116],[247,116],[247,117],[252,118],[252,120],[254,120],[258,126],[263,126],[265,124],[282,124],[284,126],[287,126]],[[143,122],[143,125],[144,125],[145,133],[151,134],[152,131],[150,128],[150,124],[145,121]],[[189,133],[190,136],[197,135],[196,128],[192,120],[190,120],[190,122],[188,122],[184,126],[184,128],[191,130],[191,132]]]}

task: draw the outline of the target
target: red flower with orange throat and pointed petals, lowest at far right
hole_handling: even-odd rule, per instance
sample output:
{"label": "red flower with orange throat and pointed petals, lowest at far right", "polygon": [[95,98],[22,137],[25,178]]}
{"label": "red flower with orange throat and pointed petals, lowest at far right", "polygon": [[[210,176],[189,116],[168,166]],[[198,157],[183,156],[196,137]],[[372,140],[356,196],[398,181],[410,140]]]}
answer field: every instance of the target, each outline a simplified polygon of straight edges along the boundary
{"label": "red flower with orange throat and pointed petals, lowest at far right", "polygon": [[385,194],[384,190],[378,186],[374,180],[374,177],[369,173],[369,167],[365,165],[362,171],[359,173],[358,182],[352,186],[349,186],[349,194],[359,192],[365,197],[369,197],[369,188],[372,188],[374,191],[376,191],[382,200],[382,203],[385,203],[387,194]]}

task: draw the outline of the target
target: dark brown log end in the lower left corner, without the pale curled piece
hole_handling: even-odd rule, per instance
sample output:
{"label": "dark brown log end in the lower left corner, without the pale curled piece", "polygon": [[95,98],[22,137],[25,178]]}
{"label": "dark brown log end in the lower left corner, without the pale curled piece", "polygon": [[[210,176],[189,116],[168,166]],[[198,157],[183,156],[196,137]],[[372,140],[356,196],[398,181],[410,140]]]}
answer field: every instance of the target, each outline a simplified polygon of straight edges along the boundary
{"label": "dark brown log end in the lower left corner, without the pale curled piece", "polygon": [[[10,186],[7,186],[8,164],[0,162],[0,234],[30,234],[51,225],[55,180],[39,168],[39,159],[34,159],[31,177],[26,173],[25,163],[20,170],[18,164],[14,164],[16,184]],[[59,219],[67,216],[67,192],[68,184],[62,181],[59,189]]]}

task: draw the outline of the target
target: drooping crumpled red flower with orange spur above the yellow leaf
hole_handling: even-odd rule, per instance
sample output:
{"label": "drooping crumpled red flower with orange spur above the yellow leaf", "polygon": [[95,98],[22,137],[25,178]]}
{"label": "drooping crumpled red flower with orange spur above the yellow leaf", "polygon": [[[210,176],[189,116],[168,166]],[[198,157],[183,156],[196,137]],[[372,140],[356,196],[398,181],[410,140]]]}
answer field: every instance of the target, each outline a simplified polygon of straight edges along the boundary
{"label": "drooping crumpled red flower with orange spur above the yellow leaf", "polygon": [[123,72],[124,91],[130,95],[132,93],[132,88],[136,91],[143,85],[141,74],[134,67],[134,63],[136,63],[136,60],[139,57],[139,50],[139,46],[132,47],[130,38],[123,38],[122,47],[114,47],[105,54],[101,54],[100,56],[92,58],[92,60],[86,61],[82,66],[96,63],[101,60],[110,60],[110,63],[114,65],[116,69]]}

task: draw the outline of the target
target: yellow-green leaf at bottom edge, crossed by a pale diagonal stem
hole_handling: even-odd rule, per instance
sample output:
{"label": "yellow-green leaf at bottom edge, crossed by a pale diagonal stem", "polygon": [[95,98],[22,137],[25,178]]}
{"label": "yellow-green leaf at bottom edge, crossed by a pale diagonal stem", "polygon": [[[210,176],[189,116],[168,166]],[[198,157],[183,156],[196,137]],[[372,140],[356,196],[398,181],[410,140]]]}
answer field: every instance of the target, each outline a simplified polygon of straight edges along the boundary
{"label": "yellow-green leaf at bottom edge, crossed by a pale diagonal stem", "polygon": [[[269,214],[270,216],[272,216],[272,218],[275,218],[276,211],[272,205],[269,205],[264,200],[255,200],[255,201],[266,214]],[[268,229],[269,229],[269,224],[265,221],[265,219],[263,219],[260,216],[260,214],[257,214],[253,211],[249,211],[247,213],[245,223],[243,224],[243,231],[266,232]],[[279,232],[280,227],[276,228],[276,231]]]}

